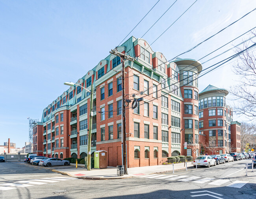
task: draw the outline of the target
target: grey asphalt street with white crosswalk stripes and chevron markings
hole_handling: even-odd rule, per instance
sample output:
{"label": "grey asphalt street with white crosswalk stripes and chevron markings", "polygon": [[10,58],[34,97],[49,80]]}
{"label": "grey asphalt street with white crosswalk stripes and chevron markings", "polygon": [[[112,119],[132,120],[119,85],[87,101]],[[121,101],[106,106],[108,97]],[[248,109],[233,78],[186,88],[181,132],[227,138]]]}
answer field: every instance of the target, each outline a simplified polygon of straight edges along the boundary
{"label": "grey asphalt street with white crosswalk stripes and chevron markings", "polygon": [[[118,180],[84,180],[23,162],[1,162],[0,198],[256,198],[256,168],[242,160]],[[71,166],[70,166],[71,167]]]}

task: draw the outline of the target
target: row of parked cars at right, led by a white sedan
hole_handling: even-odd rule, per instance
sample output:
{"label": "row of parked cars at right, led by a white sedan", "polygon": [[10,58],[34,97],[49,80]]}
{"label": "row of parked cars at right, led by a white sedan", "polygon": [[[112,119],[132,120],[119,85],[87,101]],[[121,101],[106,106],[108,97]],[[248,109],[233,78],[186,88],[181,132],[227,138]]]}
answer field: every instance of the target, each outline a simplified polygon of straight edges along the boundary
{"label": "row of parked cars at right, led by a white sedan", "polygon": [[193,165],[194,167],[196,166],[216,166],[217,164],[220,163],[225,163],[225,162],[234,162],[235,160],[242,160],[242,159],[249,159],[253,158],[254,166],[256,166],[256,161],[255,161],[255,156],[256,153],[227,153],[227,154],[220,154],[220,155],[200,155],[198,156],[194,161]]}

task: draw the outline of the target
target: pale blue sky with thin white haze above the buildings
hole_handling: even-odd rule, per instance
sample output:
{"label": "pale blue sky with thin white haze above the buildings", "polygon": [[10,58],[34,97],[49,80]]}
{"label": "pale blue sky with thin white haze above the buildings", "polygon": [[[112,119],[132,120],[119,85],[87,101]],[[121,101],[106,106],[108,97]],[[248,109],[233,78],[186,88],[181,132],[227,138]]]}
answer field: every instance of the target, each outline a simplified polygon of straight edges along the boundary
{"label": "pale blue sky with thin white haze above the buildings", "polygon": [[[156,2],[0,0],[0,145],[10,138],[17,147],[23,147],[29,139],[27,117],[41,120],[43,109],[69,88],[63,82],[76,82],[107,57]],[[160,0],[129,37],[141,38],[173,2]],[[178,0],[143,38],[151,44],[193,2]],[[252,0],[198,0],[152,44],[152,49],[169,60],[254,8],[256,1]],[[255,19],[256,11],[180,57],[204,57],[256,26]],[[229,51],[203,68],[232,54]],[[200,91],[209,84],[226,89],[236,84],[232,64],[200,78]]]}

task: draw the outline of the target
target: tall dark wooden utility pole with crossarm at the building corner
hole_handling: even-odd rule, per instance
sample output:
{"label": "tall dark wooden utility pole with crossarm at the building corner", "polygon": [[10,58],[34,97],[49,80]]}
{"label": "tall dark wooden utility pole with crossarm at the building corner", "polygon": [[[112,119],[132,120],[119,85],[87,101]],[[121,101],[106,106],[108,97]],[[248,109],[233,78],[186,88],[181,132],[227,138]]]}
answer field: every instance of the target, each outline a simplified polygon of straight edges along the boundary
{"label": "tall dark wooden utility pole with crossarm at the building corner", "polygon": [[122,59],[122,162],[124,163],[124,175],[128,175],[127,171],[127,152],[126,152],[126,130],[125,130],[125,106],[124,106],[124,97],[125,97],[125,67],[124,60],[130,60],[134,62],[134,57],[120,53],[117,49],[114,49],[109,52],[113,55],[117,55]]}

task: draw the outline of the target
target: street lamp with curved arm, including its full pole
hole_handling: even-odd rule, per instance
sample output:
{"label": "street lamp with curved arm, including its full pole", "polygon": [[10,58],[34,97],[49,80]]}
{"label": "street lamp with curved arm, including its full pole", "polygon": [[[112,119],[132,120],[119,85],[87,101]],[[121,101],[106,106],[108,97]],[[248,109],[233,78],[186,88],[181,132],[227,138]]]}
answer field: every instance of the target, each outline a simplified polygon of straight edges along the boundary
{"label": "street lamp with curved arm, including its full pole", "polygon": [[87,170],[91,171],[91,129],[92,129],[92,122],[93,122],[93,84],[91,84],[91,91],[87,90],[86,88],[84,88],[83,86],[79,85],[79,84],[75,84],[73,82],[64,82],[65,85],[68,86],[80,86],[83,89],[85,89],[86,91],[88,91],[91,94],[91,98],[90,98],[90,121],[89,121],[89,131],[88,131],[88,145],[87,145]]}

